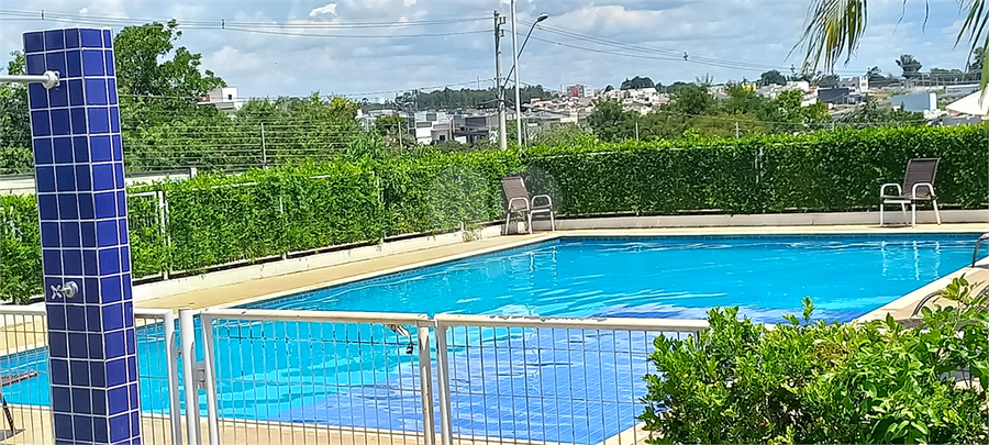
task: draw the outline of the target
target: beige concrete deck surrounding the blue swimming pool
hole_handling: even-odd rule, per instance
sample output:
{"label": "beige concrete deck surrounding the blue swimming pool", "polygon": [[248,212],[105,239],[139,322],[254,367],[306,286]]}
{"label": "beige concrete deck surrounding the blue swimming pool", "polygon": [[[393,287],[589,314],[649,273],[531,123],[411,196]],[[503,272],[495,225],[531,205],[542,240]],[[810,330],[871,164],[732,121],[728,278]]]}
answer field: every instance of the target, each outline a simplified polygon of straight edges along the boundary
{"label": "beige concrete deck surrounding the blue swimming pool", "polygon": [[[135,304],[140,308],[173,309],[232,307],[254,301],[282,297],[300,291],[319,289],[363,278],[375,277],[458,259],[477,254],[538,243],[563,236],[649,236],[649,235],[735,235],[735,234],[904,234],[904,233],[984,233],[989,224],[919,224],[909,226],[877,225],[823,225],[823,226],[736,226],[736,227],[671,227],[671,229],[621,229],[621,230],[575,230],[538,232],[533,235],[493,236],[484,240],[448,244],[438,247],[384,255],[380,257],[346,262],[326,267],[264,278],[253,278],[244,274],[241,282],[198,289],[166,297],[145,299]],[[975,246],[973,238],[973,246]],[[968,277],[989,280],[989,271],[981,268],[966,268]],[[886,313],[897,313],[912,309],[924,296],[933,291],[932,286],[944,288],[957,274],[944,277],[934,283],[911,292],[882,308],[864,315],[859,320],[885,318]],[[976,281],[976,280],[970,280]],[[138,287],[140,289],[140,287]],[[136,290],[135,290],[136,293]]]}

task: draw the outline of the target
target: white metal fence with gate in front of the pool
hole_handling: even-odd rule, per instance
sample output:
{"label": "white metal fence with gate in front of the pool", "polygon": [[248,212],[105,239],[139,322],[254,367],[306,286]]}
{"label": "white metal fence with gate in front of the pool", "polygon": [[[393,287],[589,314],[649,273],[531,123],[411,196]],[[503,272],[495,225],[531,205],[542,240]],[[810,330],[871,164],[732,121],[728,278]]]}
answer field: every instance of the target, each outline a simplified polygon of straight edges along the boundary
{"label": "white metal fence with gate in front of the pool", "polygon": [[[0,374],[37,372],[3,388],[18,434],[0,442],[51,442],[44,310],[0,316]],[[223,309],[179,311],[176,331],[171,311],[135,318],[151,444],[638,444],[653,341],[707,327]]]}

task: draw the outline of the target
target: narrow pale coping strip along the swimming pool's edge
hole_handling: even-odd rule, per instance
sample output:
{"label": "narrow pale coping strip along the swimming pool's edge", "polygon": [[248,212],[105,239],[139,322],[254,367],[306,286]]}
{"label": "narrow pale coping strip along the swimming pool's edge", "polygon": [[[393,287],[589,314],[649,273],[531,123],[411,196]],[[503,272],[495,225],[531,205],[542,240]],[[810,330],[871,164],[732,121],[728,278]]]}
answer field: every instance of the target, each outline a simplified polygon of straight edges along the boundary
{"label": "narrow pale coping strip along the swimming pool's edge", "polygon": [[[293,294],[301,294],[307,292],[312,292],[319,289],[324,289],[333,286],[341,286],[351,282],[357,282],[362,280],[380,278],[384,276],[388,276],[391,274],[400,274],[418,268],[431,267],[436,265],[442,265],[445,263],[456,262],[458,259],[470,258],[475,256],[493,254],[502,251],[510,251],[514,248],[520,248],[533,244],[545,243],[551,241],[559,241],[564,238],[608,238],[608,237],[618,237],[618,238],[645,238],[645,237],[731,237],[731,236],[741,236],[741,237],[754,237],[754,236],[765,236],[765,237],[786,237],[786,236],[829,236],[829,235],[840,235],[840,236],[849,236],[849,235],[870,235],[870,236],[889,236],[889,235],[945,235],[945,234],[976,234],[984,232],[980,230],[975,230],[974,227],[937,227],[937,229],[914,229],[905,232],[902,226],[866,226],[866,227],[854,227],[854,229],[844,229],[844,227],[809,227],[809,226],[785,226],[785,227],[773,227],[775,230],[770,231],[765,226],[744,226],[744,227],[719,227],[716,231],[711,230],[691,230],[688,227],[677,227],[675,231],[666,230],[656,230],[656,229],[645,229],[645,230],[634,230],[634,229],[605,229],[605,230],[576,230],[576,231],[557,231],[557,232],[547,232],[538,235],[534,235],[533,237],[529,237],[525,240],[520,240],[514,243],[508,243],[502,245],[484,247],[470,252],[463,252],[458,254],[447,255],[438,258],[432,258],[423,262],[410,263],[402,266],[382,268],[378,270],[373,270],[364,274],[358,274],[354,276],[336,278],[310,286],[299,287],[290,290],[284,290],[273,293],[267,293],[264,296],[236,300],[236,301],[227,301],[220,304],[210,305],[207,308],[193,310],[193,313],[199,314],[202,311],[210,309],[247,309],[241,308],[248,304],[255,304],[263,301],[276,300],[279,298],[285,298]],[[503,235],[505,236],[505,235]],[[510,235],[509,235],[510,236]],[[944,277],[941,277],[932,282],[929,282],[907,294],[890,301],[879,308],[876,308],[868,313],[860,315],[849,323],[865,323],[873,320],[881,320],[885,319],[887,314],[894,314],[897,312],[903,311],[905,308],[910,308],[919,303],[924,297],[927,294],[944,289],[948,283],[952,282],[954,278],[960,277],[963,275],[971,276],[977,274],[979,270],[986,270],[989,268],[989,256],[980,258],[976,263],[976,267],[973,268],[970,266],[962,267],[955,271],[952,271]],[[989,277],[987,277],[989,278]]]}

